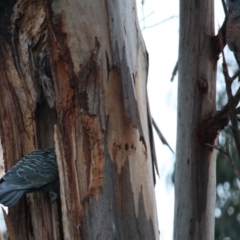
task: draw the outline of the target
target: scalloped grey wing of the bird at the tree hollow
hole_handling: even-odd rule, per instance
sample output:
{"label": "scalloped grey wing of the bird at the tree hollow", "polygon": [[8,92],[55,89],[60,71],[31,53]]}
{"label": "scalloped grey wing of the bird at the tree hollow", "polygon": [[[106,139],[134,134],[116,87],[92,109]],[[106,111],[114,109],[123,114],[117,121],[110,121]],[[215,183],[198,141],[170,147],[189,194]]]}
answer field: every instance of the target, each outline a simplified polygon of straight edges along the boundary
{"label": "scalloped grey wing of the bird at the tree hollow", "polygon": [[3,180],[15,189],[39,188],[58,178],[53,149],[34,151],[22,158],[4,176]]}

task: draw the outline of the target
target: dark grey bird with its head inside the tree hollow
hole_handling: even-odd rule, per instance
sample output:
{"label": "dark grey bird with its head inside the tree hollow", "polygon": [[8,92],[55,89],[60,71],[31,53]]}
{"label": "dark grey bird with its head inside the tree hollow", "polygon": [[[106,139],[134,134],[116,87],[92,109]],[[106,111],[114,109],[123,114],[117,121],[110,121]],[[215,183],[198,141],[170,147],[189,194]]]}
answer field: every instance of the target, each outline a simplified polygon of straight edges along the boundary
{"label": "dark grey bird with its head inside the tree hollow", "polygon": [[52,185],[58,180],[56,154],[53,148],[33,151],[19,160],[0,180],[0,203],[11,207],[25,193],[43,190],[51,202],[57,194]]}

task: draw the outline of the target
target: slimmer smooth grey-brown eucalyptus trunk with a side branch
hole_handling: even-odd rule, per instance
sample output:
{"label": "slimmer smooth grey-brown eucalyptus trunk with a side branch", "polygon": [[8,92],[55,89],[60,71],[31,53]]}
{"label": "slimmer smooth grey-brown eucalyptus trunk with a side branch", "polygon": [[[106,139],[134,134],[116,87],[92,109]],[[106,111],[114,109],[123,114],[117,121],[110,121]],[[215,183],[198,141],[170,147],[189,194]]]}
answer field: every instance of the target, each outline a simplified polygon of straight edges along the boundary
{"label": "slimmer smooth grey-brown eucalyptus trunk with a side branch", "polygon": [[214,239],[216,61],[213,0],[180,1],[175,240]]}

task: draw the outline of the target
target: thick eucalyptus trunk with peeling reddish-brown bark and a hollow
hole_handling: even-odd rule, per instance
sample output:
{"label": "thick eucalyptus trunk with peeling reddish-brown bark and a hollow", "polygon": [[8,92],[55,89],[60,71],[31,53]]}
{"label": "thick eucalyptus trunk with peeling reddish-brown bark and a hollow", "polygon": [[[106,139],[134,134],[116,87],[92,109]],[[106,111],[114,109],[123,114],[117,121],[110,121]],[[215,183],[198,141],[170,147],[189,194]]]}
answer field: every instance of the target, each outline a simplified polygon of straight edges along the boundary
{"label": "thick eucalyptus trunk with peeling reddish-brown bark and a hollow", "polygon": [[5,214],[9,239],[158,239],[148,59],[135,1],[0,3],[6,170],[55,147],[59,198]]}

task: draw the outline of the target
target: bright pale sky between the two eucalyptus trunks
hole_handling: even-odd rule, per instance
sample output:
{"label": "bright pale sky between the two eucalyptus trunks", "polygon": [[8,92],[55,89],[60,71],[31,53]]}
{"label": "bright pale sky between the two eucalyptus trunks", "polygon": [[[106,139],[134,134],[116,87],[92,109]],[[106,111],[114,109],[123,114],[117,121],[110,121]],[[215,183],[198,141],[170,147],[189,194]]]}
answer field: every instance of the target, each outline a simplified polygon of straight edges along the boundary
{"label": "bright pale sky between the two eucalyptus trunks", "polygon": [[[179,1],[146,0],[138,3],[140,27],[149,53],[148,95],[150,108],[161,132],[175,151],[177,78],[170,82],[178,57]],[[146,19],[141,21],[141,19]],[[148,16],[148,17],[147,17]],[[164,20],[167,21],[163,22]],[[155,27],[148,28],[163,22]],[[145,28],[144,28],[145,26]],[[155,186],[160,239],[172,239],[174,188],[171,175],[175,156],[155,134],[160,179]]]}

